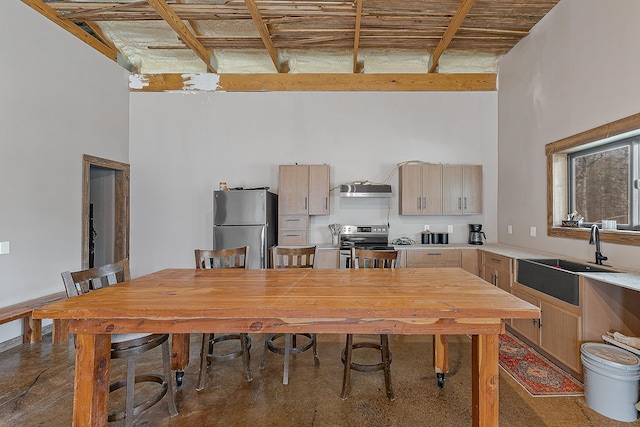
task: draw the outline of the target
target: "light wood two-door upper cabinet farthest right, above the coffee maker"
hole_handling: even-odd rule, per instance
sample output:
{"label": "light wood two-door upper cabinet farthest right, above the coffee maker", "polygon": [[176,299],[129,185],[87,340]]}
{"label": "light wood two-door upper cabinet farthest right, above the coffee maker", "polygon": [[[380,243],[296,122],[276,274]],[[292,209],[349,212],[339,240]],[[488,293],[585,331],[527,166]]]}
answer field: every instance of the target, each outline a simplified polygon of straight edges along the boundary
{"label": "light wood two-door upper cabinet farthest right, above the coffee maker", "polygon": [[482,213],[482,165],[442,166],[442,213]]}

